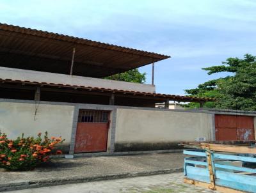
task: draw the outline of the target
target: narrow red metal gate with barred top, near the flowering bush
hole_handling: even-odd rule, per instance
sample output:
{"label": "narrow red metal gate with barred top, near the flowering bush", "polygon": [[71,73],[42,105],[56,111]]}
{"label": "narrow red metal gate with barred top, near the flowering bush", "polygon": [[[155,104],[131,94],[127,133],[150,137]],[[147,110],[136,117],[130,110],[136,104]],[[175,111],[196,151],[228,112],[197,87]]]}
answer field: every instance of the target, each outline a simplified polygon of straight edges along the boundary
{"label": "narrow red metal gate with barred top, near the flowering bush", "polygon": [[109,111],[79,111],[75,153],[107,150]]}

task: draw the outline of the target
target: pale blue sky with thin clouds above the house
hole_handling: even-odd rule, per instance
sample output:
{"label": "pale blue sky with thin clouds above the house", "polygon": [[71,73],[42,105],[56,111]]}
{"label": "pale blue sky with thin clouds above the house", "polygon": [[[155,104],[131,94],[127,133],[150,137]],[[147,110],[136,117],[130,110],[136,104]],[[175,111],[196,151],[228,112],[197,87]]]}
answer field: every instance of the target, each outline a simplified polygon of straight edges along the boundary
{"label": "pale blue sky with thin clouds above the house", "polygon": [[[0,22],[171,56],[155,63],[157,93],[184,95],[202,68],[256,51],[252,0],[0,0]],[[143,66],[151,83],[152,66]]]}

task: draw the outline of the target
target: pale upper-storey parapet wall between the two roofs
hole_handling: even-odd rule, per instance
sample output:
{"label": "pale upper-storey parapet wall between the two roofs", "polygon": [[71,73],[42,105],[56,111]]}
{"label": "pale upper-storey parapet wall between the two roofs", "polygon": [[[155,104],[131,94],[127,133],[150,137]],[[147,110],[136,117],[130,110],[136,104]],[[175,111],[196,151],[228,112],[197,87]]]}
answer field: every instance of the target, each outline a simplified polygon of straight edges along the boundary
{"label": "pale upper-storey parapet wall between the two roofs", "polygon": [[112,81],[66,75],[61,73],[39,72],[33,70],[22,70],[17,68],[0,67],[0,79],[13,79],[21,81],[47,82],[55,84],[70,84],[77,86],[91,86],[98,88],[122,89],[127,91],[140,91],[155,93],[156,88],[151,84],[139,84],[134,82]]}

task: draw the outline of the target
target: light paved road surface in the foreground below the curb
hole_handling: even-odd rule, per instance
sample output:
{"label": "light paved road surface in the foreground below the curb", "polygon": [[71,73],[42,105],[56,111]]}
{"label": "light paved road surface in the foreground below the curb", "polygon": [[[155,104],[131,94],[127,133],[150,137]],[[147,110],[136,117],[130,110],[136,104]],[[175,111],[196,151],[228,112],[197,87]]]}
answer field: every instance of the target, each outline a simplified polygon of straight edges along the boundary
{"label": "light paved road surface in the foreground below the curb", "polygon": [[183,173],[161,174],[154,176],[143,176],[135,178],[125,178],[120,180],[94,181],[87,183],[77,183],[72,185],[60,185],[55,187],[42,187],[38,189],[16,190],[10,193],[51,193],[60,192],[141,192],[141,193],[214,193],[208,189],[195,187],[183,183]]}

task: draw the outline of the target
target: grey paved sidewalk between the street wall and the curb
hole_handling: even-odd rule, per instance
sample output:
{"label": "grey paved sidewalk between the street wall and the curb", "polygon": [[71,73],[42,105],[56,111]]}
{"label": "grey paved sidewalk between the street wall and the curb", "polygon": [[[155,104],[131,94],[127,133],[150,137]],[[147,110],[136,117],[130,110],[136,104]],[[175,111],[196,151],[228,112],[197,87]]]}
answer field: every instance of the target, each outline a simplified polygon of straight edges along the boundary
{"label": "grey paved sidewalk between the street wall and the curb", "polygon": [[[64,184],[68,181],[80,181],[81,178],[101,178],[124,173],[147,173],[182,168],[182,153],[156,153],[148,155],[125,155],[113,157],[84,157],[74,159],[55,159],[44,167],[28,172],[0,171],[0,189],[8,186],[37,185],[41,183]],[[131,175],[132,176],[132,175]],[[113,178],[111,178],[113,179]],[[90,181],[90,180],[88,180]]]}

